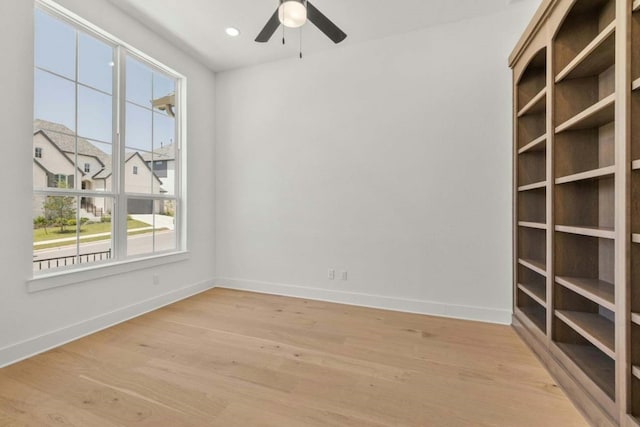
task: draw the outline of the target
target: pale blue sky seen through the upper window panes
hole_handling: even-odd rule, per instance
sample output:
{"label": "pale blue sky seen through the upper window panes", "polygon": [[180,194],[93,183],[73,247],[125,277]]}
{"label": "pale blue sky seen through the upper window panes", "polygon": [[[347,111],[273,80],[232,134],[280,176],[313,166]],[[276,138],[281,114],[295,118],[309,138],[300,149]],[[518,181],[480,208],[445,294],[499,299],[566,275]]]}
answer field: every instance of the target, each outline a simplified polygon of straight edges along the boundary
{"label": "pale blue sky seen through the upper window panes", "polygon": [[[36,9],[34,59],[34,118],[61,123],[71,130],[77,126],[79,136],[95,140],[94,145],[108,152],[110,146],[105,143],[112,142],[114,49]],[[153,151],[161,143],[171,143],[175,119],[150,108],[152,99],[175,91],[175,82],[129,56],[125,68],[127,151]]]}

